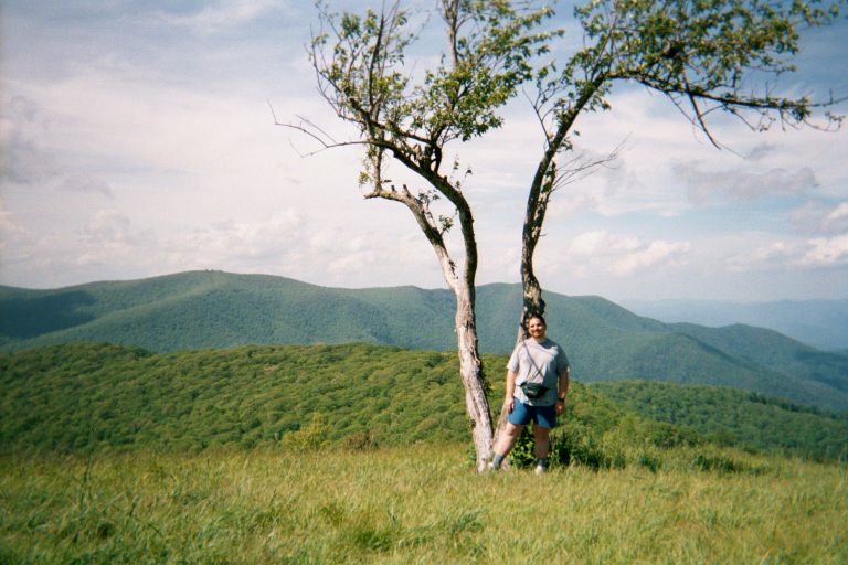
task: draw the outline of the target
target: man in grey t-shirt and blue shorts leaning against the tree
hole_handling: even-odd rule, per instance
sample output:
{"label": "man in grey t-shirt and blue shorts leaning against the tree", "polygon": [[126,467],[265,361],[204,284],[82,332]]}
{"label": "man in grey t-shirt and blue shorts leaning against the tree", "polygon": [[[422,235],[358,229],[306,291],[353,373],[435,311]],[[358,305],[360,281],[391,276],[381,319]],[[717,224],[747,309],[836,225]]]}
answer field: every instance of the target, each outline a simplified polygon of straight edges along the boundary
{"label": "man in grey t-shirt and blue shorts leaning against the tree", "polygon": [[[536,473],[542,475],[548,470],[550,433],[556,426],[556,416],[565,411],[569,358],[560,345],[548,339],[547,329],[544,318],[531,315],[527,319],[530,337],[516,347],[507,363],[504,407],[509,416],[504,434],[495,446],[495,457],[489,463],[492,470],[500,469],[521,429],[531,420],[534,423]],[[539,390],[539,384],[543,386],[542,390]],[[537,391],[532,391],[532,386]]]}

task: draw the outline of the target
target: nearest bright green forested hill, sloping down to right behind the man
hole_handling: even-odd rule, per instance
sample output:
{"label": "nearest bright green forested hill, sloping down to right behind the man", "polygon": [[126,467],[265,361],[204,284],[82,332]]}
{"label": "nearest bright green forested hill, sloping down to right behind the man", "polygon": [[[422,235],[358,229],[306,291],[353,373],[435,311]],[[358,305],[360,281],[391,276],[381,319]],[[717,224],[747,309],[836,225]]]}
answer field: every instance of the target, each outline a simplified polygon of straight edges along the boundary
{"label": "nearest bright green forested hill, sloping down to right behind the man", "polygon": [[[487,355],[490,367],[506,363]],[[498,371],[500,373],[500,371]],[[456,355],[369,344],[150,353],[109,344],[0,354],[3,454],[112,447],[171,451],[275,441],[463,443]],[[491,398],[502,397],[502,379]],[[637,441],[679,435],[575,384],[570,414]]]}

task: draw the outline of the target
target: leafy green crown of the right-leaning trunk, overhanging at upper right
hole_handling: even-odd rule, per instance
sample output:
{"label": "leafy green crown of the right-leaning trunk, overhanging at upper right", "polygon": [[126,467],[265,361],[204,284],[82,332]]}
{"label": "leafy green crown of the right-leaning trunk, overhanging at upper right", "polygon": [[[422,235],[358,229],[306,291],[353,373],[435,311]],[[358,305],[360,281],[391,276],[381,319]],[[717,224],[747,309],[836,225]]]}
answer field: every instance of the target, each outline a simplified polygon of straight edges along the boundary
{"label": "leafy green crown of the right-leaning trunk, overhanging at upper right", "polygon": [[669,96],[708,136],[704,117],[713,110],[743,120],[759,115],[746,121],[759,129],[776,120],[805,124],[817,104],[775,95],[766,81],[795,70],[803,26],[826,24],[838,12],[838,4],[815,0],[593,1],[575,12],[591,41],[569,61],[561,89],[573,98],[581,77],[635,81]]}

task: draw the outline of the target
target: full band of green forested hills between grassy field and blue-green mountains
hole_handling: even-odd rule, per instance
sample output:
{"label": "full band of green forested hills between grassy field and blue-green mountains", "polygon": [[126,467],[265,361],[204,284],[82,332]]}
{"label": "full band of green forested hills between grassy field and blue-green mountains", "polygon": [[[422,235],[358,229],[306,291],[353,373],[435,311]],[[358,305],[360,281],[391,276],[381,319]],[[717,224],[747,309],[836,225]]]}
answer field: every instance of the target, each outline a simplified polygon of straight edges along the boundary
{"label": "full band of green forested hills between grassy field and blue-green mountains", "polygon": [[[485,358],[496,375],[496,405],[505,362],[504,355]],[[848,419],[750,393],[594,386],[572,385],[560,433],[633,448],[708,438],[817,458],[845,457],[848,446]],[[151,353],[73,344],[0,354],[0,455],[279,441],[361,448],[468,437],[453,353],[371,344]]]}

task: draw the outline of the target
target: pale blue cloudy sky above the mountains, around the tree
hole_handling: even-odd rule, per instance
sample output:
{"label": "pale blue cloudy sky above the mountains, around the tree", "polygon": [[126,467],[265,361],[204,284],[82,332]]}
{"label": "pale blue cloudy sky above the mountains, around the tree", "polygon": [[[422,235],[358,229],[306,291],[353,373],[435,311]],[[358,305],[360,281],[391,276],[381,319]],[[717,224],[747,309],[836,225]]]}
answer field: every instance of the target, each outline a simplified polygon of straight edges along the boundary
{"label": "pale blue cloudy sky above the mountains, around the tree", "polygon": [[[568,24],[570,9],[558,11]],[[308,140],[273,125],[268,102],[280,119],[349,134],[316,93],[304,49],[315,22],[311,2],[294,0],[4,0],[0,284],[221,269],[443,287],[409,212],[362,199],[356,150],[301,158]],[[846,26],[805,34],[801,72],[780,88],[848,94]],[[579,149],[624,149],[556,194],[537,258],[545,288],[613,300],[848,298],[848,127],[755,134],[720,120],[730,150],[719,151],[657,95],[621,87],[611,100],[579,124]],[[521,98],[506,115],[501,130],[454,148],[474,170],[481,284],[519,280],[540,148]]]}

